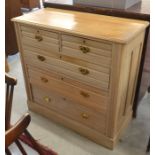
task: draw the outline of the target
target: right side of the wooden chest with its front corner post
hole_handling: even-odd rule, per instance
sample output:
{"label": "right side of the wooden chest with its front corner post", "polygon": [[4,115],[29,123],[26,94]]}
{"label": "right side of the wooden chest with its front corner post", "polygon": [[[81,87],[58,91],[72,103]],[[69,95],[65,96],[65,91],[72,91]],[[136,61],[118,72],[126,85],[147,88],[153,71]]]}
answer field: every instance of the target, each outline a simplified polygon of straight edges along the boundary
{"label": "right side of the wooden chest with its front corner post", "polygon": [[[126,46],[118,47],[118,50],[121,51],[119,54],[113,53],[114,61],[112,64],[113,69],[111,75],[113,80],[110,87],[112,88],[112,85],[115,85],[116,87],[110,89],[112,104],[110,104],[109,108],[109,119],[111,120],[111,123],[109,123],[109,127],[107,128],[110,137],[116,135],[118,128],[120,128],[126,120],[126,115],[132,111],[138,75],[137,70],[139,69],[140,64],[139,59],[141,57],[144,34],[145,32],[142,32]],[[115,46],[114,48],[117,47]],[[130,93],[132,93],[132,95]],[[115,100],[116,98],[117,100]],[[126,111],[127,109],[128,112]]]}

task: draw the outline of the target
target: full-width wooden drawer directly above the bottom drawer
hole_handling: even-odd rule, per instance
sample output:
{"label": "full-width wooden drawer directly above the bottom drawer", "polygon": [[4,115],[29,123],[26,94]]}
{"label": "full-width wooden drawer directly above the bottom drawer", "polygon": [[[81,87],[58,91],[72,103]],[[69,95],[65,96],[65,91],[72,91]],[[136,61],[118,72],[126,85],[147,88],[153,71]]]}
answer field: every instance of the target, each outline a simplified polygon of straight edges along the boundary
{"label": "full-width wooden drawer directly above the bottom drawer", "polygon": [[[32,67],[28,68],[31,84],[55,91],[62,96],[78,101],[79,104],[104,112],[107,109],[108,98],[90,90],[69,83],[69,79],[55,73],[47,73]],[[71,82],[73,83],[73,82]]]}

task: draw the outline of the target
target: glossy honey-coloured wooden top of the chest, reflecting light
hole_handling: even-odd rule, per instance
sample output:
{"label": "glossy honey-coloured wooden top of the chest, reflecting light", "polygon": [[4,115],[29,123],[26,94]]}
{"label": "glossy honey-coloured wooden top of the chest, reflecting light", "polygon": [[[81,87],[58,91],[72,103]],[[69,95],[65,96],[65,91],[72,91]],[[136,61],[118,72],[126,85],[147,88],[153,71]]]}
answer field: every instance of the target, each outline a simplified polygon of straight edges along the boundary
{"label": "glossy honey-coloured wooden top of the chest, reflecting light", "polygon": [[128,42],[149,24],[141,20],[53,8],[41,9],[12,20],[119,43]]}

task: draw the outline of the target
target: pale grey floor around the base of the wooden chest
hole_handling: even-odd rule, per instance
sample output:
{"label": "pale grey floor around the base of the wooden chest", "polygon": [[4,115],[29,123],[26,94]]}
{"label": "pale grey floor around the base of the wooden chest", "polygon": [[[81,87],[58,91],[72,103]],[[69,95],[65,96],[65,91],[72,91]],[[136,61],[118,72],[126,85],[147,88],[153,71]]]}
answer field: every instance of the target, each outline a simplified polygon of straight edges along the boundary
{"label": "pale grey floor around the base of the wooden chest", "polygon": [[[13,99],[12,123],[14,123],[28,111],[28,108],[19,54],[9,56],[8,63],[9,74],[18,80]],[[41,144],[52,148],[59,155],[146,155],[150,131],[149,102],[149,94],[146,93],[140,103],[137,119],[130,123],[113,151],[31,111],[29,112],[32,121],[28,130]],[[32,152],[29,154],[35,155]]]}

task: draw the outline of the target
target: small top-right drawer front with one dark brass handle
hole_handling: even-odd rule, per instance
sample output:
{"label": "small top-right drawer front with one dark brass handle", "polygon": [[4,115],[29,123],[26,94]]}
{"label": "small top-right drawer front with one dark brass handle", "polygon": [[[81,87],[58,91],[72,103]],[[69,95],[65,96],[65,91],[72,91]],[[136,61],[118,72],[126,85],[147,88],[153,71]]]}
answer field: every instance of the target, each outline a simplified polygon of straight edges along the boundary
{"label": "small top-right drawer front with one dark brass handle", "polygon": [[62,35],[62,54],[110,68],[111,45],[74,36]]}

